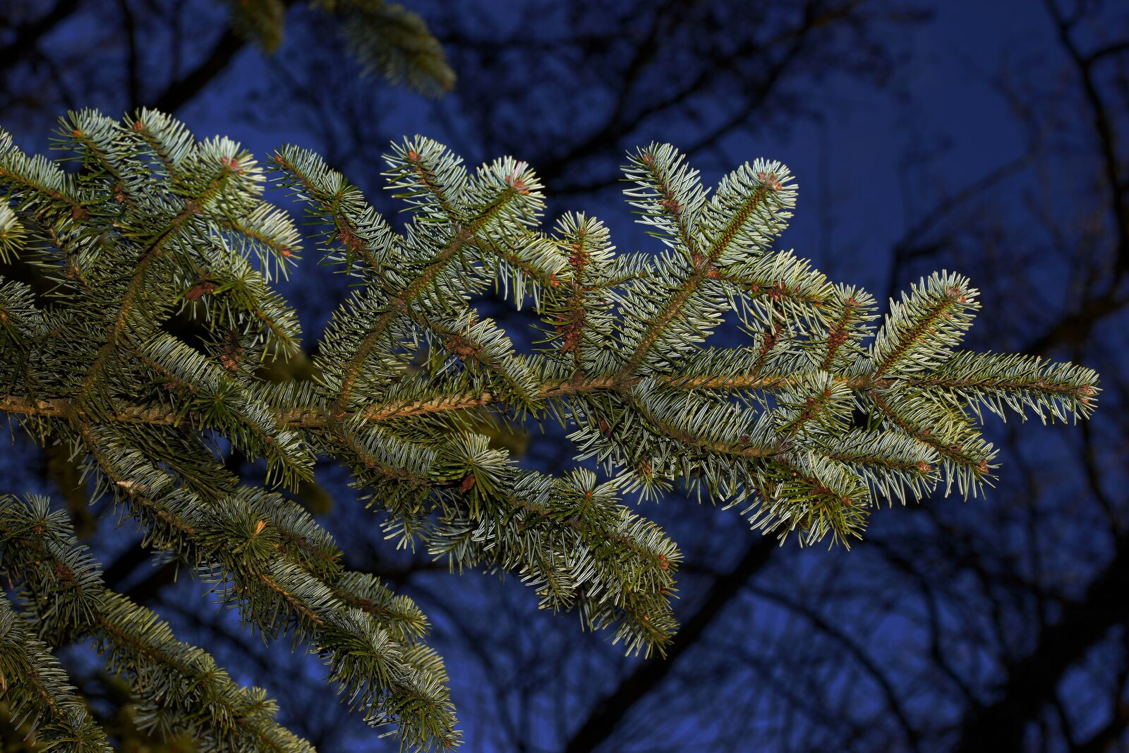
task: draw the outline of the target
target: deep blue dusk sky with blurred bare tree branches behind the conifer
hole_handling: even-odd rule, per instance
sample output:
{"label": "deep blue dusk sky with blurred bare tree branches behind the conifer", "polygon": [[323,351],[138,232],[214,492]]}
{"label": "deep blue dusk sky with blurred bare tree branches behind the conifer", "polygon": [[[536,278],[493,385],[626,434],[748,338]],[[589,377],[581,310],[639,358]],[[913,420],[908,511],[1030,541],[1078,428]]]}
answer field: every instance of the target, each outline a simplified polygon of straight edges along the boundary
{"label": "deep blue dusk sky with blurred bare tree branches behind the conifer", "polygon": [[[1129,744],[1129,9],[1014,0],[418,1],[457,84],[439,99],[361,77],[324,7],[282,9],[272,45],[237,3],[9,0],[0,122],[28,150],[62,110],[173,111],[257,154],[292,140],[375,195],[390,139],[421,132],[469,163],[528,160],[554,202],[648,247],[619,192],[628,147],[668,140],[714,182],[768,156],[805,189],[785,243],[884,298],[921,273],[966,273],[995,313],[972,347],[1053,354],[1103,375],[1103,410],[1070,432],[989,422],[1008,482],[986,500],[877,514],[841,551],[778,548],[734,514],[669,499],[648,515],[686,558],[666,660],[537,613],[518,584],[437,577],[390,557],[336,469],[303,494],[348,552],[432,615],[473,751],[1115,751]],[[324,5],[324,3],[323,3]],[[251,35],[251,38],[255,38]],[[449,80],[449,79],[448,79]],[[439,86],[438,90],[444,87]],[[435,91],[435,89],[432,89]],[[345,292],[307,264],[285,289],[310,339]],[[510,323],[506,323],[509,327]],[[559,437],[507,437],[560,466]],[[107,526],[65,456],[19,445],[3,491],[65,496]],[[108,531],[108,527],[106,528]],[[325,702],[307,657],[200,608],[199,584],[99,536],[108,585],[279,699],[323,751],[374,750]],[[62,655],[98,713],[121,688]],[[18,748],[19,735],[5,739]],[[129,737],[126,750],[177,750]]]}

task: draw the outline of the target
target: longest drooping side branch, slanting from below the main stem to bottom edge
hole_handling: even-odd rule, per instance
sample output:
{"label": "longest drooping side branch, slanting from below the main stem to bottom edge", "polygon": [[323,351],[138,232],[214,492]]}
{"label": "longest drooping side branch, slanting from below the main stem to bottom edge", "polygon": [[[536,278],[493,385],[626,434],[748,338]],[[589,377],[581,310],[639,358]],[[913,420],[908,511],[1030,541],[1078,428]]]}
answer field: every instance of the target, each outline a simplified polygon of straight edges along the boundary
{"label": "longest drooping side branch, slanting from below the main stem to bottom edge", "polygon": [[[239,606],[244,619],[265,634],[292,630],[326,654],[343,700],[365,710],[370,725],[396,724],[396,734],[420,750],[458,739],[445,675],[418,672],[409,659],[421,649],[392,638],[418,633],[419,627],[405,631],[402,618],[376,606],[350,608],[334,588],[345,575],[335,564],[340,554],[294,502],[236,490],[207,505],[176,489],[169,474],[140,454],[113,457],[112,434],[87,429],[84,440],[108,491],[146,525],[149,545],[186,558],[218,580],[225,601]],[[318,569],[327,570],[329,583],[317,577]],[[349,576],[340,594],[356,603],[357,576]],[[401,602],[401,611],[404,606]],[[384,624],[390,621],[392,630]],[[429,665],[441,667],[435,660]],[[399,709],[409,708],[420,716],[400,716]]]}

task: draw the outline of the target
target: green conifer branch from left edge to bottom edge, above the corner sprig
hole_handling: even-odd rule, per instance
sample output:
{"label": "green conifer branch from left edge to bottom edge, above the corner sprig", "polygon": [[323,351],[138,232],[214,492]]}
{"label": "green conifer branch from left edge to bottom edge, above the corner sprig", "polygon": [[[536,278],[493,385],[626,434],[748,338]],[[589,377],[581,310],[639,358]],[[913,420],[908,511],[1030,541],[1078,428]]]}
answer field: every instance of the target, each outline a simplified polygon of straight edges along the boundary
{"label": "green conifer branch from left edge to bottom edge, above the corner sprig", "polygon": [[131,677],[142,729],[189,734],[207,751],[313,750],[274,723],[277,707],[263,691],[235,684],[156,614],[108,592],[65,515],[51,513],[46,499],[0,497],[0,559],[41,630],[59,641],[93,639],[111,671]]}

